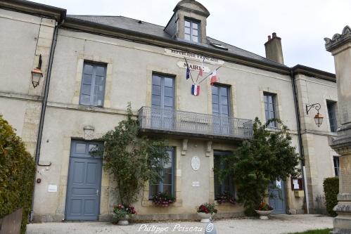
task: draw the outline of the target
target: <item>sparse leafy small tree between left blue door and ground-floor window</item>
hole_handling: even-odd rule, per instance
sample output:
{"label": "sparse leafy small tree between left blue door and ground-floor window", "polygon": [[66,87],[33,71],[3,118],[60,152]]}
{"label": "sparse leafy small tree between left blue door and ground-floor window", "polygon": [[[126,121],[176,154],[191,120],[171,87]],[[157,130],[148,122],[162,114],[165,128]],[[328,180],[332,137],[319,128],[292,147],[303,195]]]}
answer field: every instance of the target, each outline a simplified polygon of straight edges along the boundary
{"label": "sparse leafy small tree between left blue door and ground-floor window", "polygon": [[127,119],[108,131],[101,138],[105,144],[92,151],[93,155],[103,155],[104,168],[117,182],[117,198],[127,206],[137,200],[146,181],[162,179],[161,162],[168,162],[165,141],[139,138],[138,132],[139,122],[133,118],[129,103]]}

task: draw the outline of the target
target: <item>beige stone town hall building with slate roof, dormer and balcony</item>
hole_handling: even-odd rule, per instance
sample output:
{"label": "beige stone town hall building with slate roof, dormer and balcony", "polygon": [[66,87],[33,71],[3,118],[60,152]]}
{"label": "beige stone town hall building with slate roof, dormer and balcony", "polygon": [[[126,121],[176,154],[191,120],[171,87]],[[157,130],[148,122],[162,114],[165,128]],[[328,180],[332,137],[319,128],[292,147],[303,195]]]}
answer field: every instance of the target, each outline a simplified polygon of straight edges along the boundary
{"label": "beige stone town hall building with slate roof, dormer and balcony", "polygon": [[[338,155],[328,146],[338,126],[335,75],[283,65],[276,34],[265,44],[267,58],[212,39],[206,35],[209,15],[197,1],[182,0],[163,27],[1,1],[0,114],[37,162],[34,221],[109,219],[113,181],[89,148],[125,119],[129,102],[142,134],[167,138],[172,146],[170,180],[145,186],[135,203],[139,219],[192,219],[196,205],[215,202],[224,190],[235,195],[230,181],[216,182],[213,168],[217,157],[250,138],[255,117],[279,117],[305,157],[305,193],[293,190],[290,178],[274,181],[283,200],[272,205],[284,214],[304,207],[317,212],[323,179],[338,173]],[[185,58],[195,77],[201,65],[205,75],[220,67],[219,80],[214,86],[201,82],[200,94],[192,95]],[[34,88],[31,71],[39,60],[44,76]],[[314,103],[324,115],[320,127],[316,112],[306,112]],[[155,207],[149,200],[155,190],[170,191],[176,202]],[[240,204],[217,207],[218,216],[243,214]]]}

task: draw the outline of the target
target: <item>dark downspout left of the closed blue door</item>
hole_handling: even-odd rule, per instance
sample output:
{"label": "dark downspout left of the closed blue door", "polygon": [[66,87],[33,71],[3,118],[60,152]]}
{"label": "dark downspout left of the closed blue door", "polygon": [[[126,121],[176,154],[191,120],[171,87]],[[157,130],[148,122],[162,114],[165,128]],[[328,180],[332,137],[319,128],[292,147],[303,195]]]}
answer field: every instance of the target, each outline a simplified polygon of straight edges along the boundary
{"label": "dark downspout left of the closed blue door", "polygon": [[[50,78],[51,78],[51,68],[53,65],[53,54],[55,53],[55,48],[56,48],[56,41],[57,41],[57,36],[58,36],[58,27],[63,24],[63,20],[61,20],[58,24],[55,25],[55,29],[53,30],[53,41],[51,42],[51,50],[50,50],[50,56],[49,56],[49,65],[48,65],[48,71],[46,72],[46,79],[45,79],[45,86],[44,86],[44,96],[42,100],[42,111],[40,113],[40,120],[39,120],[39,130],[38,130],[38,136],[37,136],[37,148],[35,150],[35,164],[36,164],[36,169],[37,166],[41,167],[49,167],[51,166],[51,162],[49,164],[39,164],[39,158],[40,158],[40,148],[42,145],[42,134],[43,134],[43,128],[44,128],[44,118],[45,118],[45,111],[46,111],[46,104],[48,102],[48,96],[49,96],[49,86],[50,86]],[[34,207],[34,190],[35,190],[35,184],[36,184],[36,179],[34,178],[34,187],[33,187],[33,193],[32,193],[32,208],[30,211],[30,222],[33,221],[33,207]]]}

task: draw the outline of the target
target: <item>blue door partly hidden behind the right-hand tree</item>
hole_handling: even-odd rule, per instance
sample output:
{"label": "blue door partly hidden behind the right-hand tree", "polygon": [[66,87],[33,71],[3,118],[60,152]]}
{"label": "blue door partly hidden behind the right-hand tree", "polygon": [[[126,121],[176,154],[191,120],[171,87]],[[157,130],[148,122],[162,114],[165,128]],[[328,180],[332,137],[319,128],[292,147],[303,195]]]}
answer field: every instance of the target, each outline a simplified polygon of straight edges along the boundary
{"label": "blue door partly hidden behind the right-hand tree", "polygon": [[273,214],[286,214],[285,184],[283,180],[272,181],[269,193],[269,205],[274,208]]}

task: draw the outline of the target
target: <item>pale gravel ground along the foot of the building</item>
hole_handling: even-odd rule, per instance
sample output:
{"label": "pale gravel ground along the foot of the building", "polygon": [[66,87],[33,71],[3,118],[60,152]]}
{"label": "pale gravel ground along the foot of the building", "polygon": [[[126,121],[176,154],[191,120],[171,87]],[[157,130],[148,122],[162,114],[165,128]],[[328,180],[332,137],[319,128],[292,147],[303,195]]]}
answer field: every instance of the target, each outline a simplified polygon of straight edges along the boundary
{"label": "pale gravel ground along the foot of the building", "polygon": [[[274,215],[269,220],[222,219],[214,222],[217,234],[275,234],[300,232],[310,229],[332,228],[333,219],[313,214]],[[102,222],[30,223],[27,234],[153,234],[153,233],[205,233],[206,223],[200,222],[159,222],[133,223],[117,226]],[[152,230],[151,228],[158,228]],[[186,230],[186,228],[188,228]],[[193,230],[190,230],[193,228]],[[197,228],[197,230],[196,230]]]}

